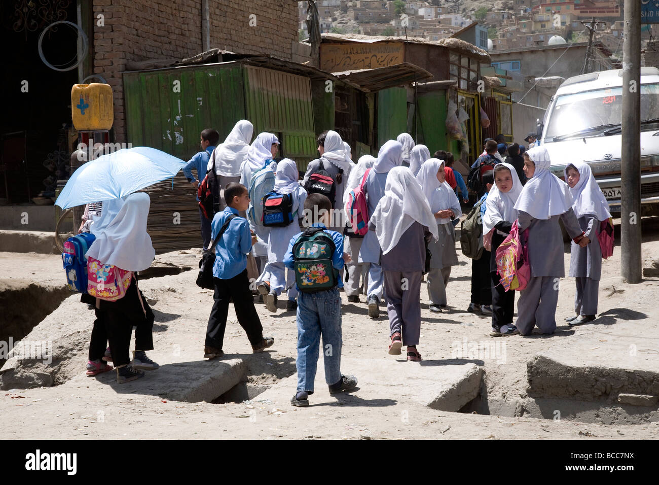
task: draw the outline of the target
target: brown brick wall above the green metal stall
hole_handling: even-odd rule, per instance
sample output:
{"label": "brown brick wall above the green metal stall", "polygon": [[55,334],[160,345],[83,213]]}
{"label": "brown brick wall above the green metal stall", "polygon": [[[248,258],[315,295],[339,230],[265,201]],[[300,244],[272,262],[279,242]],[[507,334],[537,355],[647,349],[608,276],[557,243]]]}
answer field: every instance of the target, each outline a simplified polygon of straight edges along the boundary
{"label": "brown brick wall above the green metal stall", "polygon": [[[210,47],[291,60],[297,2],[209,0]],[[112,86],[115,136],[126,142],[121,71],[127,61],[183,59],[202,51],[202,0],[93,0],[94,73]],[[98,15],[105,25],[98,25]],[[250,15],[256,26],[250,26]],[[253,22],[252,22],[253,23]]]}

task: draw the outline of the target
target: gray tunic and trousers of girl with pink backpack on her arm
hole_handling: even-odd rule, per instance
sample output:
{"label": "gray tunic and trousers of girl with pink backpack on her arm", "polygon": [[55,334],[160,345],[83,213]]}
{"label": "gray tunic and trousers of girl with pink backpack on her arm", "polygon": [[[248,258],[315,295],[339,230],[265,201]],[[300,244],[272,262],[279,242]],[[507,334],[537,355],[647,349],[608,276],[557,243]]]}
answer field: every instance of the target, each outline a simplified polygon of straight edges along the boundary
{"label": "gray tunic and trousers of girl with pink backpack on her arm", "polygon": [[542,333],[556,330],[556,306],[558,304],[559,278],[565,276],[563,264],[563,234],[558,220],[571,238],[581,234],[579,221],[570,208],[559,216],[536,219],[523,210],[519,211],[520,230],[529,228],[529,264],[531,278],[527,288],[520,292],[517,301],[517,322],[521,335],[530,335],[536,325]]}

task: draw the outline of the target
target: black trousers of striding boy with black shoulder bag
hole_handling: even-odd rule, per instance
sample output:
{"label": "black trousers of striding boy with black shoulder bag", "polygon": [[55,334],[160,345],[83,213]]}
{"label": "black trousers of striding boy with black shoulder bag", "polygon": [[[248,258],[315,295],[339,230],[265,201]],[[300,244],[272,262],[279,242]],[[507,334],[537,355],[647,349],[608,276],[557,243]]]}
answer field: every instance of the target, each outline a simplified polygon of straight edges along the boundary
{"label": "black trousers of striding boy with black shoulder bag", "polygon": [[204,345],[222,348],[231,298],[233,298],[238,323],[243,327],[250,344],[259,344],[263,339],[263,327],[256,308],[254,308],[254,295],[249,289],[247,270],[230,280],[213,278],[213,281],[215,283],[215,294],[213,295],[215,302],[208,318]]}

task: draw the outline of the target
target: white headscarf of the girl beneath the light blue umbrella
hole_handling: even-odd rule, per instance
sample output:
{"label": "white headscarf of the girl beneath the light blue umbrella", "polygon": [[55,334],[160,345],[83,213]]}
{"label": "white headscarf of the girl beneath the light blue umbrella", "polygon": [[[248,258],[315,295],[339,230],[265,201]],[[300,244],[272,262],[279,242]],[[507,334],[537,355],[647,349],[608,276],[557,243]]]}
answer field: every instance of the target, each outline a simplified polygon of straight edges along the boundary
{"label": "white headscarf of the girl beneath the light blue umbrella", "polygon": [[[151,199],[143,192],[130,194],[121,203],[119,212],[115,212],[118,204],[104,203],[100,219],[92,226],[96,240],[86,256],[125,271],[144,271],[150,267],[156,256],[146,232],[150,204]],[[113,207],[105,210],[107,205]]]}

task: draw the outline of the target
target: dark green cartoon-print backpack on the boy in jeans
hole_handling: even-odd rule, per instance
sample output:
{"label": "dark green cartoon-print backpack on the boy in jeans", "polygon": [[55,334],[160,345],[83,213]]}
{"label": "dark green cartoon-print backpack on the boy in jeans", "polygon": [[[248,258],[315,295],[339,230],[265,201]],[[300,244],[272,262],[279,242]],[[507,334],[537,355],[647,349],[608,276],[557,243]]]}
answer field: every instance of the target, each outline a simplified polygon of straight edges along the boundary
{"label": "dark green cartoon-print backpack on the boy in jeans", "polygon": [[308,228],[293,244],[297,288],[304,293],[334,288],[339,272],[331,264],[336,246],[323,228]]}

